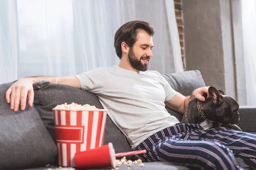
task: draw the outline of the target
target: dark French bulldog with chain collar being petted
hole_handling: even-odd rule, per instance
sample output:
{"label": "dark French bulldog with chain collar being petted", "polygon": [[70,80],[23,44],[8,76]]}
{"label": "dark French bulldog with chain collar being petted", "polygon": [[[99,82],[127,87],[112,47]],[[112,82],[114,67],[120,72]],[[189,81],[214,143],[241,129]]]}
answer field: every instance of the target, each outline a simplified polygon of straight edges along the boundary
{"label": "dark French bulldog with chain collar being petted", "polygon": [[192,99],[189,102],[182,122],[197,123],[204,130],[222,126],[242,131],[235,125],[239,122],[239,104],[236,100],[225,96],[223,91],[214,87],[209,87],[208,91],[210,98],[207,99],[207,94],[204,94],[204,102],[199,99]]}

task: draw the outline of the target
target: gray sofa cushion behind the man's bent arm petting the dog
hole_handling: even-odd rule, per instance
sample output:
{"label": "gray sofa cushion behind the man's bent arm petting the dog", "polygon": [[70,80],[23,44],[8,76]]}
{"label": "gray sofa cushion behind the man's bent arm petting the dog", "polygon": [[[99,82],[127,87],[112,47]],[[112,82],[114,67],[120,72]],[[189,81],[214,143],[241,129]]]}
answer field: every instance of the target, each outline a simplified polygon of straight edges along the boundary
{"label": "gray sofa cushion behind the man's bent arm petting the dog", "polygon": [[[184,96],[190,96],[192,91],[194,91],[196,88],[201,88],[205,86],[204,79],[200,71],[198,70],[183,71],[180,73],[162,75],[175,91],[183,94]],[[182,120],[183,115],[181,115],[180,113],[172,111],[167,107],[166,110],[172,116],[175,116],[179,121]]]}

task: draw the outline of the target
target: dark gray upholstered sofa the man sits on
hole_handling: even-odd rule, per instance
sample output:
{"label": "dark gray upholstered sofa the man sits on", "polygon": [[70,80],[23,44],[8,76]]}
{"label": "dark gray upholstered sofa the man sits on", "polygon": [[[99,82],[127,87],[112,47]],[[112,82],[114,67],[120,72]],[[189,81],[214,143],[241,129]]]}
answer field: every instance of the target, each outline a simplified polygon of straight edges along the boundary
{"label": "dark gray upholstered sofa the man sits on", "polygon": [[[205,86],[199,71],[164,74],[163,77],[166,78],[172,88],[185,96],[190,95],[195,88]],[[102,108],[99,99],[94,94],[77,88],[41,81],[34,85],[35,101],[33,107],[26,106],[25,111],[15,113],[9,109],[10,106],[5,99],[6,90],[12,83],[0,85],[0,170],[58,169],[57,159],[55,159],[57,147],[52,108],[64,102],[89,104]],[[182,115],[168,108],[167,111],[181,121]],[[238,125],[241,129],[256,133],[256,107],[241,106],[239,113],[241,119]],[[116,153],[131,150],[124,134],[109,117],[106,122],[104,144],[108,142],[113,143]],[[133,159],[133,157],[130,156],[128,159]],[[247,167],[243,161],[236,160],[240,166]],[[62,168],[62,170],[64,169],[71,170],[72,168]],[[131,170],[133,169],[186,170],[188,168],[166,162],[153,162],[145,163],[145,166],[141,168],[138,165],[132,165]],[[110,170],[110,168],[104,170]],[[119,170],[127,170],[127,165],[122,164]]]}

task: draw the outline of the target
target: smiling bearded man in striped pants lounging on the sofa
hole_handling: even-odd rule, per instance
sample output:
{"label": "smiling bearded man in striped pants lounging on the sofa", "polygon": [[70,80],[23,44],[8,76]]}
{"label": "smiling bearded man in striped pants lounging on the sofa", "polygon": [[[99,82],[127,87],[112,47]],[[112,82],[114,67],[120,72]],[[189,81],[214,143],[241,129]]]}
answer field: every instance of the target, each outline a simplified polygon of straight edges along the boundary
{"label": "smiling bearded man in striped pants lounging on the sofa", "polygon": [[[133,150],[146,149],[138,158],[169,161],[193,169],[237,170],[234,155],[256,168],[256,136],[226,128],[203,130],[197,124],[182,124],[165,106],[184,114],[191,99],[204,101],[208,87],[191,96],[172,89],[157,71],[146,71],[152,57],[154,28],[143,21],[122,25],[114,46],[119,66],[97,68],[71,77],[24,77],[6,92],[10,108],[24,110],[26,97],[32,107],[33,85],[41,80],[70,85],[96,94],[112,121],[126,135]],[[204,139],[204,140],[203,140]],[[229,148],[228,148],[229,147]]]}

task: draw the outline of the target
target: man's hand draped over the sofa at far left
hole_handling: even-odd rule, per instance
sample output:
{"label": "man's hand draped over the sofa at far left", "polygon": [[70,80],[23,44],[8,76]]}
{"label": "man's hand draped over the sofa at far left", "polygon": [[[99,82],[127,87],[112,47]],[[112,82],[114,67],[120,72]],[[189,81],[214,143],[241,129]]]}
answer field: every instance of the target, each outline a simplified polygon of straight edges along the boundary
{"label": "man's hand draped over the sofa at far left", "polygon": [[29,107],[32,107],[34,101],[34,79],[31,77],[24,77],[19,79],[17,82],[6,91],[6,101],[10,103],[10,109],[13,111],[23,111],[26,108],[26,98],[29,97]]}

